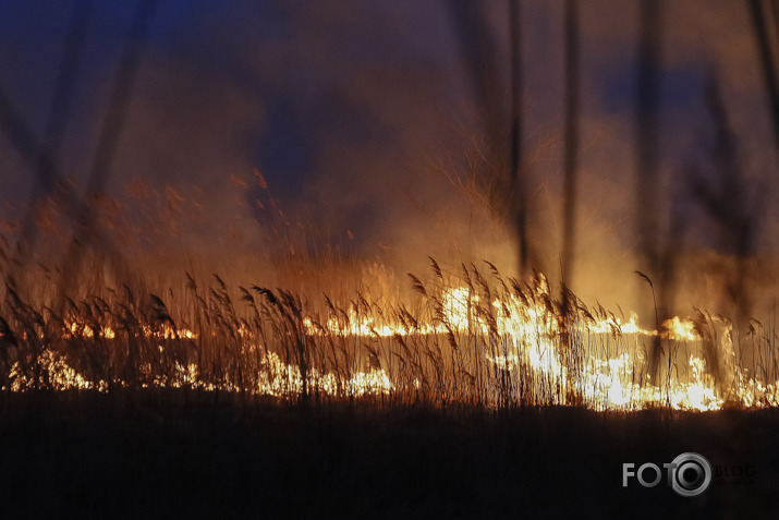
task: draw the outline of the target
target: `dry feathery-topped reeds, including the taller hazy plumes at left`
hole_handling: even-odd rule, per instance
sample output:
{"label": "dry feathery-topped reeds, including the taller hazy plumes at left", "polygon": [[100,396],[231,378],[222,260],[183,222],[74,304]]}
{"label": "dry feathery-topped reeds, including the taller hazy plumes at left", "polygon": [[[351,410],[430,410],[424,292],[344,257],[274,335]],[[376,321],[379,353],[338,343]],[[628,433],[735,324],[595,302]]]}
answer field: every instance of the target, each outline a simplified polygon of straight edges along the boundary
{"label": "dry feathery-topped reeds, including the taller hazy plumes at left", "polygon": [[[629,399],[645,401],[625,408],[641,408],[670,406],[674,385],[693,376],[686,361],[695,354],[726,404],[775,404],[775,389],[760,386],[779,379],[774,321],[755,321],[748,335],[733,337],[726,318],[695,310],[697,340],[680,342],[623,334],[617,324],[630,316],[621,311],[552,290],[540,274],[506,277],[489,262],[453,265],[430,257],[429,270],[404,280],[388,266],[356,261],[313,238],[284,216],[258,177],[257,204],[267,211],[258,240],[270,253],[247,263],[240,279],[234,263],[226,264],[230,277],[222,277],[168,259],[177,257],[168,256],[177,233],[204,220],[182,206],[196,201],[172,189],[154,195],[134,186],[131,205],[94,202],[100,215],[112,216],[102,219],[111,237],[133,252],[127,262],[136,268],[125,279],[114,258],[88,253],[63,286],[63,266],[15,263],[0,235],[0,387],[179,387],[382,406],[607,409],[609,397],[593,397],[592,387],[619,376],[631,388]],[[61,210],[56,201],[41,207],[48,215],[39,219],[41,247],[45,257],[57,257],[65,245],[54,223]],[[215,250],[233,253],[229,243]],[[511,329],[516,324],[520,329]],[[596,332],[594,324],[607,330]],[[723,351],[727,341],[732,344]],[[658,391],[647,398],[641,395],[650,371],[645,360],[655,346],[661,352],[652,382]],[[609,360],[628,361],[614,367]]]}

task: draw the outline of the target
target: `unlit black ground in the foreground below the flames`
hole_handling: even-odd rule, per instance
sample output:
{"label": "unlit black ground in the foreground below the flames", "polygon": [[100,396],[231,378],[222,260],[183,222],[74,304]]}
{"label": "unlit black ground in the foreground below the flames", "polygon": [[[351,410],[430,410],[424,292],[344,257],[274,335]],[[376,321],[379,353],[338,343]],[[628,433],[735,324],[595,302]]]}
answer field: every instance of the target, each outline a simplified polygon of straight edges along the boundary
{"label": "unlit black ground in the foreground below the flames", "polygon": [[[388,411],[167,390],[7,395],[0,416],[2,518],[779,513],[779,411]],[[752,476],[715,475],[694,498],[622,487],[622,462],[684,451]]]}

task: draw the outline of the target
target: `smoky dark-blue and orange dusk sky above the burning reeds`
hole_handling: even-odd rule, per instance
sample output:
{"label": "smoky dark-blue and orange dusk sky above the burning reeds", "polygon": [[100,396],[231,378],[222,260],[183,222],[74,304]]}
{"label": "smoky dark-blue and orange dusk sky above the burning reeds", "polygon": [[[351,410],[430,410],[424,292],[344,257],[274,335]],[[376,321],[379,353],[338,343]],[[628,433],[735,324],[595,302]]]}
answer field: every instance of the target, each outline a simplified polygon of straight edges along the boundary
{"label": "smoky dark-blue and orange dusk sky above the burning reeds", "polygon": [[[85,190],[138,4],[0,1],[0,88],[39,141],[57,111],[64,41],[82,8],[83,51],[56,157],[76,190]],[[694,170],[718,186],[705,100],[717,77],[738,136],[744,204],[760,214],[757,250],[772,252],[776,176],[767,172],[777,157],[745,4],[664,4],[661,196],[653,204],[658,215],[678,215],[664,226],[684,223],[682,245],[696,262],[730,254],[689,182]],[[508,66],[506,2],[484,5],[497,61]],[[562,215],[562,5],[522,4],[531,234],[552,277]],[[624,298],[641,268],[633,233],[637,7],[579,4],[574,287],[607,300]],[[130,213],[125,220],[137,228],[175,220],[169,234],[155,237],[190,255],[206,255],[215,243],[259,247],[269,229],[289,225],[288,234],[315,251],[332,246],[409,270],[425,265],[428,254],[451,266],[489,258],[510,271],[511,230],[468,190],[484,128],[450,8],[433,0],[160,0],[102,186],[119,201],[112,207]],[[504,72],[498,81],[506,83]],[[504,83],[496,92],[506,94]],[[4,132],[0,150],[2,215],[13,222],[34,193],[35,171]],[[270,209],[270,196],[282,217]]]}

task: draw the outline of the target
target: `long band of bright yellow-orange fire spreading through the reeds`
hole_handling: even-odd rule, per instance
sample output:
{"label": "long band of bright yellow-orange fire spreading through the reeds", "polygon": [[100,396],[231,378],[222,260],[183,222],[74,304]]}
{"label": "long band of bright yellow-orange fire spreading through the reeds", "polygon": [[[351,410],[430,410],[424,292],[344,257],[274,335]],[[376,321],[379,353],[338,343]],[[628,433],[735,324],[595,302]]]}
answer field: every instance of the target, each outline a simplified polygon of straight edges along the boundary
{"label": "long band of bright yellow-orange fire spreading through the reeds", "polygon": [[[629,411],[779,406],[779,383],[738,365],[725,321],[707,317],[704,331],[701,323],[674,316],[653,330],[635,313],[591,313],[575,300],[565,311],[544,277],[524,287],[512,280],[511,289],[500,279],[502,290],[480,275],[474,279],[475,285],[447,285],[440,277],[437,289],[422,288],[425,300],[413,311],[364,301],[338,309],[328,300],[322,317],[289,293],[277,298],[256,288],[265,302],[247,291],[243,298],[254,306],[255,322],[239,319],[232,310],[226,314],[230,321],[217,322],[221,329],[195,331],[170,319],[139,323],[131,331],[92,315],[60,322],[60,331],[26,327],[16,337],[40,347],[32,356],[11,359],[3,389],[108,391],[139,385],[280,398],[423,395],[487,406],[520,401]],[[9,338],[10,329],[0,341],[12,344]],[[203,358],[207,346],[224,341],[231,359]],[[73,349],[93,343],[87,359],[115,354],[115,368],[100,373],[94,364],[74,362]],[[647,359],[657,346],[666,368],[653,378]]]}

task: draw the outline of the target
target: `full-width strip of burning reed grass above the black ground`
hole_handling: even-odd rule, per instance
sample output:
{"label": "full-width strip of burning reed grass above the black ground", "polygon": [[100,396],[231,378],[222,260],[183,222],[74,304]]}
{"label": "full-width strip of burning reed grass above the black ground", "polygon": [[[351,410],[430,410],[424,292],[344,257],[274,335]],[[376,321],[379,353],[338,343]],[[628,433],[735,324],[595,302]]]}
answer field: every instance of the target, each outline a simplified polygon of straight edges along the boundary
{"label": "full-width strip of burning reed grass above the black ground", "polygon": [[[659,330],[634,314],[556,297],[543,275],[520,281],[486,263],[448,273],[430,258],[397,301],[313,297],[260,286],[185,285],[138,294],[102,287],[58,306],[8,279],[0,305],[0,387],[184,388],[283,400],[486,408],[718,410],[779,404],[775,336],[755,322],[696,311]],[[658,374],[647,350],[659,341]],[[744,363],[748,347],[750,366]]]}

